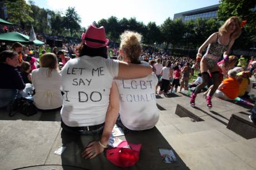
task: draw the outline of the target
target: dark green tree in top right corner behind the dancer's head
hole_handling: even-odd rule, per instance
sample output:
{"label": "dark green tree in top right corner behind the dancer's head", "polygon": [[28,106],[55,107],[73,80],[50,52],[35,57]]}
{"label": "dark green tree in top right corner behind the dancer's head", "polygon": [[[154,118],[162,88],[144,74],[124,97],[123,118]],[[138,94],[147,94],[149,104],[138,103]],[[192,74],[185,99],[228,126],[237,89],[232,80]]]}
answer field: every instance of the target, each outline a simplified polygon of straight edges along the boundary
{"label": "dark green tree in top right corner behind the dancer's head", "polygon": [[238,16],[247,20],[242,35],[235,41],[234,48],[250,48],[256,43],[256,0],[220,0],[218,19],[225,21],[229,17]]}

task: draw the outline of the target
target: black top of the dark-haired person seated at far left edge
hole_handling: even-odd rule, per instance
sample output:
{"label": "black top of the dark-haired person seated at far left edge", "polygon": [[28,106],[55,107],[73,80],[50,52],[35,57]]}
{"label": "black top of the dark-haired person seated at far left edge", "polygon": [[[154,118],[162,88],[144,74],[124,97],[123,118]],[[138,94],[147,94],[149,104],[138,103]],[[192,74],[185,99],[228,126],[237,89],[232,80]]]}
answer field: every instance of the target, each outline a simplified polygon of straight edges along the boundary
{"label": "black top of the dark-haired person seated at far left edge", "polygon": [[22,90],[26,86],[18,69],[8,64],[0,63],[0,78],[0,89]]}

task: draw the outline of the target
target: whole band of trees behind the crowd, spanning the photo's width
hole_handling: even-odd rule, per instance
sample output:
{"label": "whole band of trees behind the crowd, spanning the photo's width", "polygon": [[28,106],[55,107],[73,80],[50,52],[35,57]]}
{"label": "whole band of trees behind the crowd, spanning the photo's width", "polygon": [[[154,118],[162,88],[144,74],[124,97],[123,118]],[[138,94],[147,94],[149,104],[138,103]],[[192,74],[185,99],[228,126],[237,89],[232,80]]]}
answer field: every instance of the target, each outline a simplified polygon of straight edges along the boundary
{"label": "whole band of trees behind the crowd, spanning the photo's width", "polygon": [[[235,41],[234,48],[253,47],[256,42],[256,0],[234,1],[220,0],[218,20],[203,19],[182,22],[181,19],[166,18],[164,23],[155,22],[144,24],[136,18],[121,18],[115,16],[102,18],[93,22],[97,27],[104,26],[107,38],[111,42],[119,43],[119,36],[125,30],[132,30],[142,34],[142,43],[146,45],[165,44],[165,48],[183,47],[196,49],[214,32],[218,32],[220,25],[229,17],[239,16],[247,20],[242,35]],[[80,38],[86,28],[81,27],[81,17],[75,8],[68,7],[65,12],[56,12],[40,8],[33,1],[27,4],[24,0],[5,1],[8,20],[22,27],[33,25],[37,33],[70,36]]]}

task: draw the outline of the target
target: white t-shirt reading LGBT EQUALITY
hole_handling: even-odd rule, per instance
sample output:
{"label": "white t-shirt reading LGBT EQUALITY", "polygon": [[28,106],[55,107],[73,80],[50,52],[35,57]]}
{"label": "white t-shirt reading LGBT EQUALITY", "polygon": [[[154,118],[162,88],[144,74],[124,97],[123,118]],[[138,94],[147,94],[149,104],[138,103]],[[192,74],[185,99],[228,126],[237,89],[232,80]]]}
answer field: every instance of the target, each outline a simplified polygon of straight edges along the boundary
{"label": "white t-shirt reading LGBT EQUALITY", "polygon": [[[143,65],[149,65],[142,62]],[[156,125],[159,113],[156,107],[154,72],[145,78],[116,80],[120,95],[120,118],[130,130],[146,130]]]}

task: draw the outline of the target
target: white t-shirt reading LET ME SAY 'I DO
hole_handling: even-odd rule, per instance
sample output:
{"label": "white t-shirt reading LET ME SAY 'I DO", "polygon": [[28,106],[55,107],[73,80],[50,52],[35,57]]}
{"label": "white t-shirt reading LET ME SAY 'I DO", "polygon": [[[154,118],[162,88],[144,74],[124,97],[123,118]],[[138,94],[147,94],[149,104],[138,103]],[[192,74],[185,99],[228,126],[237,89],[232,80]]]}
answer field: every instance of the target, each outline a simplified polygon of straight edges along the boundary
{"label": "white t-shirt reading LET ME SAY 'I DO", "polygon": [[61,71],[62,121],[67,126],[93,126],[105,122],[112,81],[119,61],[101,56],[69,60]]}

